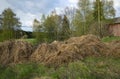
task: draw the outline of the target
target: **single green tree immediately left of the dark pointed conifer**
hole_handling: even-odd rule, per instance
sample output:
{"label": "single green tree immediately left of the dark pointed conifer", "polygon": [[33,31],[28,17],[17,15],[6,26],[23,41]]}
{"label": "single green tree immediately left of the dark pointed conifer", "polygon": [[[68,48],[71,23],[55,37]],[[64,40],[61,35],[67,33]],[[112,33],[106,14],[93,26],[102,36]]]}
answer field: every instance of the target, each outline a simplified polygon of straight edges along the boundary
{"label": "single green tree immediately left of the dark pointed conifer", "polygon": [[59,31],[61,26],[61,16],[52,12],[44,21],[45,32],[47,33],[48,41],[59,40]]}

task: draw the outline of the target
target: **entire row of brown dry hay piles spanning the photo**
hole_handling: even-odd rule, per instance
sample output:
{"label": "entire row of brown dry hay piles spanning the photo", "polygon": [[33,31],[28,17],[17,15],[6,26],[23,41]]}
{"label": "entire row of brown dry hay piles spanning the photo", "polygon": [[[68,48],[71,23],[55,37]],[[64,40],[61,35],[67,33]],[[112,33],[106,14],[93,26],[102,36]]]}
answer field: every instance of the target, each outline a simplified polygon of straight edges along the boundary
{"label": "entire row of brown dry hay piles spanning the photo", "polygon": [[94,35],[72,37],[66,41],[54,41],[34,47],[24,41],[6,41],[0,44],[0,64],[33,61],[47,66],[58,67],[62,64],[83,60],[85,57],[120,57],[120,41],[103,43]]}

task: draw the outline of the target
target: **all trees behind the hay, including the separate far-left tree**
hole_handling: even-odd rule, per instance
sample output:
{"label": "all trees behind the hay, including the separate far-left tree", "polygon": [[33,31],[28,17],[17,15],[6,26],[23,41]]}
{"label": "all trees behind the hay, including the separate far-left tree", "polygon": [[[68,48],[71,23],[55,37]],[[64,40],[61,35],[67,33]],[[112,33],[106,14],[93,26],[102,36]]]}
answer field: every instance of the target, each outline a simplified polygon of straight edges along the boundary
{"label": "all trees behind the hay, including the separate far-left tree", "polygon": [[[108,25],[113,22],[113,0],[79,0],[77,8],[66,7],[61,14],[52,11],[49,15],[33,21],[33,36],[38,42],[65,40],[73,36],[94,34],[108,36]],[[24,34],[16,14],[5,9],[0,14],[0,41],[16,39]],[[31,35],[31,34],[30,34]]]}

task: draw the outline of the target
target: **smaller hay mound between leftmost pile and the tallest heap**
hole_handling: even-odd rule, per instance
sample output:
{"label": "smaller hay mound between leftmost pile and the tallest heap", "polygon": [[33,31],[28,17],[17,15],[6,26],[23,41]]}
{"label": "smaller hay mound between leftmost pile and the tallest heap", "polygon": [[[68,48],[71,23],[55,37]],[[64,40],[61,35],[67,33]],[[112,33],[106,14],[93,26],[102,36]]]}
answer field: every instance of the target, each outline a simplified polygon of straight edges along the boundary
{"label": "smaller hay mound between leftmost pile and the tallest heap", "polygon": [[46,59],[46,57],[48,57],[56,51],[58,51],[57,46],[43,43],[38,46],[35,52],[31,55],[30,59],[32,61],[42,62]]}

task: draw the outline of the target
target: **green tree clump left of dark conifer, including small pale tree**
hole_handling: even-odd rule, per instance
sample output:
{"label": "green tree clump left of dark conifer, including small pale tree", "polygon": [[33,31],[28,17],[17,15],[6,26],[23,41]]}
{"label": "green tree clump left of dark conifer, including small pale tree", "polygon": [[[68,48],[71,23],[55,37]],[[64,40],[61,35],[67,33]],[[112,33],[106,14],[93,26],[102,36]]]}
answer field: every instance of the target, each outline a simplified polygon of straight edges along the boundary
{"label": "green tree clump left of dark conifer, including small pale tree", "polygon": [[[51,14],[41,18],[41,24],[39,21],[34,20],[34,36],[38,42],[52,42],[60,39],[61,32],[61,16],[57,14]],[[36,29],[36,30],[35,30]]]}

